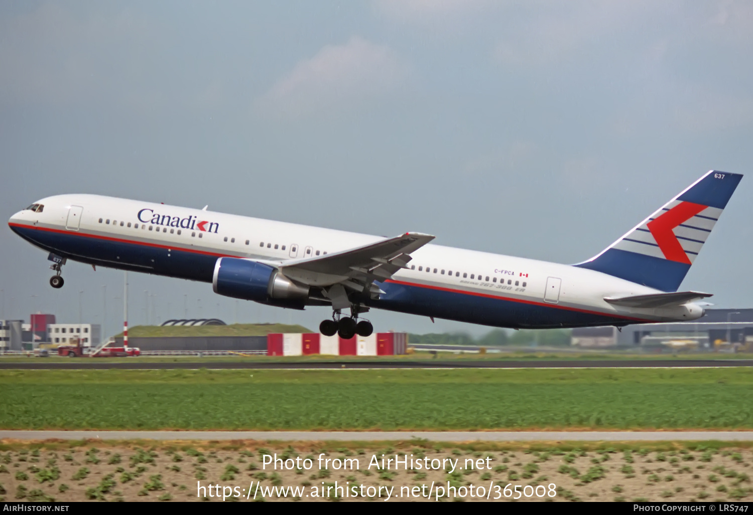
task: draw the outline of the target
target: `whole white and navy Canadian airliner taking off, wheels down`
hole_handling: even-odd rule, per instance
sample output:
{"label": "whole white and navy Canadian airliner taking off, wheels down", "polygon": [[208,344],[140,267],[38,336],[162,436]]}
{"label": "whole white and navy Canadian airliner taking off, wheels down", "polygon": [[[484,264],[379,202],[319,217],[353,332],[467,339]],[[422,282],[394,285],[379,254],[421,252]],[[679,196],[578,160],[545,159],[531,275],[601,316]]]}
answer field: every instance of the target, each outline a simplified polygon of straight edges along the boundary
{"label": "whole white and navy Canadian airliner taking off, wheels down", "polygon": [[79,261],[211,282],[215,293],[270,306],[329,306],[322,334],[373,331],[389,309],[499,328],[577,328],[687,321],[698,291],[678,291],[742,175],[712,170],[587,261],[556,264],[90,194],[46,197],[8,221],[62,266]]}

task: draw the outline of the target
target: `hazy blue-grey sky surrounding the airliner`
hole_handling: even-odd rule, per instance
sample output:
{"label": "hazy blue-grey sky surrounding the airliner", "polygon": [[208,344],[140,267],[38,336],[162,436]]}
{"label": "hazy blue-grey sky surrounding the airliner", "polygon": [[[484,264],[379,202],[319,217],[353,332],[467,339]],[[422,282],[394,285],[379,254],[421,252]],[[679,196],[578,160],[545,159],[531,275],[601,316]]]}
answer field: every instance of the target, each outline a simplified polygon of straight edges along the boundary
{"label": "hazy blue-grey sky surrounding the airliner", "polygon": [[[0,205],[7,220],[63,193],[209,204],[575,263],[703,172],[748,174],[751,56],[751,2],[0,2]],[[718,307],[753,305],[751,188],[682,285]],[[68,264],[53,291],[45,257],[2,229],[0,318],[78,321],[84,291],[101,321],[106,285],[113,332],[122,273]],[[211,285],[130,276],[134,325],[145,290],[160,321],[186,299],[191,317],[235,318]]]}

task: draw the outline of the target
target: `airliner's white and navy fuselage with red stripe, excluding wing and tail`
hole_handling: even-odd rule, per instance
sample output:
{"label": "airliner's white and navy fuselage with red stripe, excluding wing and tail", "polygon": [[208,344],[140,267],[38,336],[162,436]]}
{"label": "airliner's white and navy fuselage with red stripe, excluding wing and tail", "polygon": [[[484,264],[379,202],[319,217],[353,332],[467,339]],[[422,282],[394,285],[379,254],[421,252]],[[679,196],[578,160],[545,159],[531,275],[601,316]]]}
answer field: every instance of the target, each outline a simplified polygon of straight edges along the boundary
{"label": "airliner's white and navy fuselage with red stripe, excluding wing and tail", "polygon": [[[47,251],[205,282],[212,281],[218,257],[284,262],[383,239],[99,195],[59,195],[38,203],[41,212],[18,212],[9,225]],[[667,309],[615,306],[604,297],[660,291],[569,265],[442,245],[425,245],[411,256],[408,270],[380,285],[386,295],[374,307],[516,328],[687,321],[703,315],[693,303]]]}

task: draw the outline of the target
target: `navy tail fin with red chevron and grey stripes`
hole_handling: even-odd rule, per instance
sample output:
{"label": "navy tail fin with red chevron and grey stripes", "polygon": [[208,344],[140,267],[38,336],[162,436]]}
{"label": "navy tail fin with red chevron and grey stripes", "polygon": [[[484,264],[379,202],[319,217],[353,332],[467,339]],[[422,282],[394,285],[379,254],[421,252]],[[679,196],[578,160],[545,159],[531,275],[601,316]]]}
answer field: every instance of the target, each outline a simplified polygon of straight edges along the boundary
{"label": "navy tail fin with red chevron and grey stripes", "polygon": [[677,291],[742,175],[712,170],[633,230],[575,267]]}

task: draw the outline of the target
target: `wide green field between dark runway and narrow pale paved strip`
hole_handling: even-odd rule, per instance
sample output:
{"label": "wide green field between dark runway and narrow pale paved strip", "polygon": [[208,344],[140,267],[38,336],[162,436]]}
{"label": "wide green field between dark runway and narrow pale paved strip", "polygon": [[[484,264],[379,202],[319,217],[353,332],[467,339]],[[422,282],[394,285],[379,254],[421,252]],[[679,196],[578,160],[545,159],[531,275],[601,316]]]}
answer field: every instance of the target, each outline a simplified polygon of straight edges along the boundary
{"label": "wide green field between dark runway and narrow pale paved strip", "polygon": [[724,369],[2,370],[5,429],[751,428]]}

